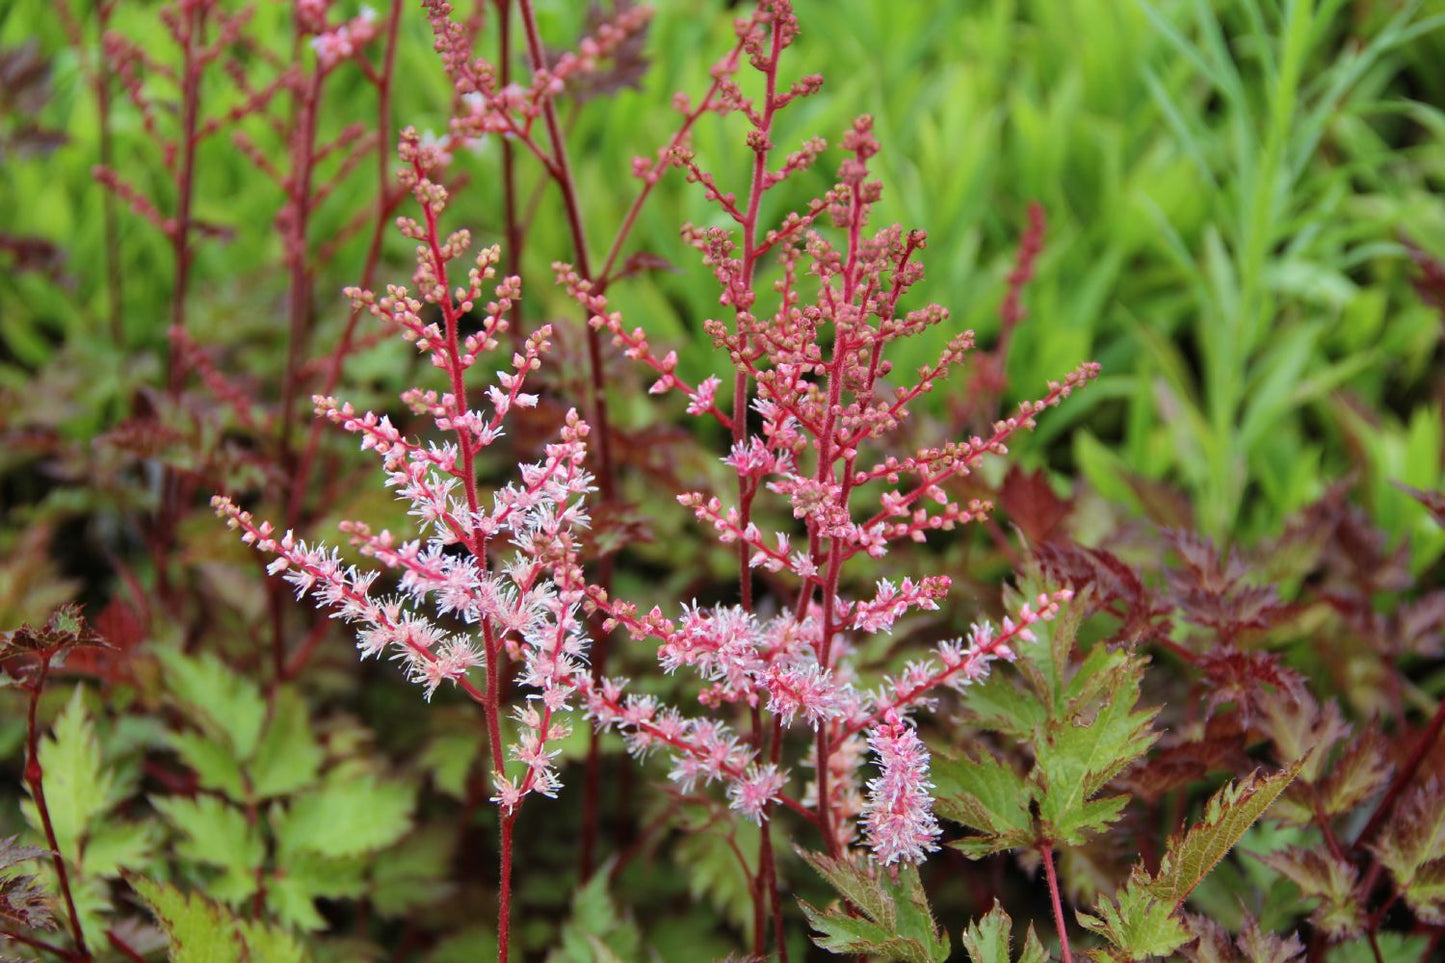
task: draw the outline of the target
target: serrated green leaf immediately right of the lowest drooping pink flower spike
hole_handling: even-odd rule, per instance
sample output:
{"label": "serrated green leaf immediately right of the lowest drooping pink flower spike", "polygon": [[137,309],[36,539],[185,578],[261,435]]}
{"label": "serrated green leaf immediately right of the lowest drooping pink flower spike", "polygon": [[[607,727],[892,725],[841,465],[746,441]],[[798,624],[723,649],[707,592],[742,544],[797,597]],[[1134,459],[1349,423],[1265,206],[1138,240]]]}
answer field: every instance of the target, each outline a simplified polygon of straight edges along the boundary
{"label": "serrated green leaf immediately right of the lowest drooping pink flower spike", "polygon": [[936,756],[932,778],[933,811],[980,833],[949,846],[978,859],[1033,842],[1032,787],[1013,766],[965,750],[957,759]]}

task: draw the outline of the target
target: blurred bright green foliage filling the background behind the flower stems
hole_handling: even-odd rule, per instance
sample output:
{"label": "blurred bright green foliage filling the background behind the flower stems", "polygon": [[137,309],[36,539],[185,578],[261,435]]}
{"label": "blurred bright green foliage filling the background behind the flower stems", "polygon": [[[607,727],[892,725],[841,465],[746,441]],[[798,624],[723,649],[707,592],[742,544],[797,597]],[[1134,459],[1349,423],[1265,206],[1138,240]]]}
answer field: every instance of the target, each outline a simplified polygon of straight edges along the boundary
{"label": "blurred bright green foliage filling the background behind the flower stems", "polygon": [[[342,4],[344,6],[344,4]],[[484,4],[490,6],[490,4]],[[539,3],[556,46],[577,36],[579,3]],[[1419,571],[1445,536],[1392,480],[1441,486],[1441,311],[1413,286],[1405,241],[1445,257],[1445,3],[1399,0],[798,0],[802,38],[792,75],[821,72],[819,97],[785,111],[776,139],[835,140],[870,113],[884,145],[883,220],[925,228],[923,294],[949,307],[988,346],[1003,278],[1039,201],[1048,236],[1026,294],[1029,320],[1007,360],[1012,401],[1079,360],[1104,366],[1100,383],[1019,447],[1026,464],[1082,476],[1105,496],[1156,515],[1144,482],[1179,490],[1195,523],[1225,539],[1277,531],[1280,519],[1334,480],[1353,476],[1396,538],[1410,535]],[[338,6],[338,10],[341,7]],[[123,3],[114,29],[158,36],[152,3]],[[676,124],[673,91],[705,90],[708,67],[731,40],[737,10],[660,3],[639,90],[581,106],[568,117],[592,257],[631,201],[636,155],[652,155]],[[94,20],[75,9],[87,36]],[[288,10],[262,4],[257,35],[286,43]],[[406,6],[394,120],[442,130],[448,88],[420,10]],[[120,343],[105,335],[101,194],[91,178],[97,114],[81,62],[49,0],[0,6],[0,46],[33,42],[51,67],[33,114],[65,134],[52,152],[6,150],[3,230],[53,241],[64,263],[0,272],[0,388],[12,425],[52,424],[90,437],[123,411],[137,379],[159,377],[171,259],[149,224],[121,211],[124,278]],[[90,55],[95,55],[95,48]],[[155,43],[152,55],[168,56]],[[285,52],[285,51],[282,51]],[[351,84],[348,88],[347,84]],[[208,103],[237,93],[212,78]],[[366,119],[373,97],[338,78],[324,123]],[[12,98],[13,100],[13,98]],[[10,104],[9,130],[19,121]],[[741,189],[747,152],[737,119],[698,124],[699,160]],[[169,189],[159,152],[117,95],[117,168],[147,191]],[[831,178],[835,155],[769,214],[801,204]],[[454,215],[484,241],[500,240],[496,143],[458,158],[470,184]],[[249,360],[276,364],[285,272],[273,227],[280,195],[227,139],[202,152],[199,218],[224,236],[199,244],[192,318],[199,340],[254,344]],[[522,194],[538,182],[522,165]],[[366,171],[342,182],[316,215],[322,246],[374,189]],[[555,191],[540,191],[526,247],[527,311],[571,315],[548,265],[569,259]],[[630,250],[676,272],[614,289],[630,321],[681,348],[689,376],[724,367],[701,337],[715,288],[678,239],[683,221],[718,214],[673,172]],[[394,240],[394,239],[392,239]],[[390,243],[390,241],[389,241]],[[318,278],[325,348],[345,317],[364,237],[344,244]],[[0,254],[3,257],[3,254]],[[403,243],[383,278],[406,270]],[[329,294],[328,292],[334,292]],[[270,347],[267,347],[270,346]],[[929,360],[918,343],[900,369]],[[400,380],[387,359],[358,359],[348,380]],[[147,360],[149,359],[149,360]],[[36,377],[71,386],[69,405],[25,403]],[[961,390],[955,382],[952,390]],[[64,392],[62,392],[64,395]],[[957,399],[952,399],[957,401]],[[647,399],[620,401],[646,406]],[[948,392],[931,398],[948,419]],[[955,428],[962,428],[955,425]]]}

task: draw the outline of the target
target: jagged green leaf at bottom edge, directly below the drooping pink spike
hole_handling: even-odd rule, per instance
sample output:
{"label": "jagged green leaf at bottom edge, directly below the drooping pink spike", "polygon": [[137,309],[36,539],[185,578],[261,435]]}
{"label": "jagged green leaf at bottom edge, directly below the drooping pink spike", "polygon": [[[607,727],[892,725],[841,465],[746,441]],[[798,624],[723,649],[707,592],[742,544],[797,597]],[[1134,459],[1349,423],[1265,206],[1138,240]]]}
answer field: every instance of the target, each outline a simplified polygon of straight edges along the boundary
{"label": "jagged green leaf at bottom edge, directly below the drooping pink spike", "polygon": [[863,917],[850,917],[834,904],[818,910],[799,899],[812,924],[812,940],[829,953],[871,953],[902,963],[944,963],[949,954],[948,933],[933,921],[933,911],[918,879],[918,869],[902,866],[890,878],[886,868],[864,869],[847,859],[832,859],[799,850],[809,866]]}

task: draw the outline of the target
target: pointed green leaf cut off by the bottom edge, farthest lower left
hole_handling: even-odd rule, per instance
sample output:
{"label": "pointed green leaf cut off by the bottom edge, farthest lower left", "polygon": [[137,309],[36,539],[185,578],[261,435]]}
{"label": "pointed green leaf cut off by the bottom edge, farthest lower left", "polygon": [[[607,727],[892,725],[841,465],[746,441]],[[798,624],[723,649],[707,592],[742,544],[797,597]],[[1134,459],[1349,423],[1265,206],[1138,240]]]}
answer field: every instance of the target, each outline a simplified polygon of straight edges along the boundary
{"label": "pointed green leaf cut off by the bottom edge, farthest lower left", "polygon": [[171,963],[306,963],[305,949],[276,927],[236,920],[199,894],[139,875],[126,881],[146,901],[171,940]]}

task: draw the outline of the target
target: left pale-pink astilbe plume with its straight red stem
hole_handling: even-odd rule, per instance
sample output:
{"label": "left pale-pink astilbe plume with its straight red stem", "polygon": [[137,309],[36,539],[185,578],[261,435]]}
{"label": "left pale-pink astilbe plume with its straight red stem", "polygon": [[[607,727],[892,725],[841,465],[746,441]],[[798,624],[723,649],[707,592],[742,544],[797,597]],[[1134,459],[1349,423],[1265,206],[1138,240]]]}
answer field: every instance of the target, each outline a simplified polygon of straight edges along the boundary
{"label": "left pale-pink astilbe plume with its straight red stem", "polygon": [[[386,484],[418,519],[418,536],[344,523],[353,545],[379,562],[361,568],[345,564],[335,548],[303,542],[289,531],[277,534],[224,496],[214,506],[247,544],[276,557],[270,571],[283,573],[298,597],[311,596],[334,617],[357,626],[363,658],[399,661],[428,698],[451,682],[481,706],[493,801],[503,811],[499,940],[506,959],[517,808],[527,795],[553,795],[561,787],[553,743],[566,736],[568,726],[559,713],[572,707],[572,696],[587,678],[578,551],[579,532],[588,525],[584,497],[591,490],[588,425],[569,412],[540,461],[520,466],[517,482],[490,500],[483,497],[477,455],[501,437],[509,411],[536,405],[536,395],[523,386],[540,364],[551,330],[533,331],[513,354],[510,370],[496,373],[486,392],[488,409],[474,406],[468,372],[506,334],[520,281],[503,278],[491,286],[491,299],[481,304],[500,259],[500,250],[488,247],[477,254],[465,282],[452,286],[452,265],[467,256],[471,236],[465,230],[441,233],[447,191],[431,176],[442,163],[442,150],[422,145],[416,132],[407,130],[400,158],[402,181],[423,214],[420,221],[399,220],[402,233],[418,241],[412,291],[393,285],[384,296],[355,288],[348,294],[444,372],[444,390],[415,388],[403,401],[416,415],[429,416],[448,440],[407,438],[390,418],[357,412],[332,398],[316,396],[315,403],[319,416],[358,435],[361,447],[381,458]],[[439,321],[431,320],[434,315]],[[475,330],[467,330],[478,317]],[[399,575],[399,593],[376,590],[383,571]],[[465,628],[451,632],[448,622]],[[530,690],[525,700],[512,698],[510,664],[520,665],[514,681]],[[481,684],[474,681],[474,669],[481,671]],[[520,733],[510,748],[519,765],[510,768],[501,736],[501,714],[509,706]]]}

